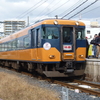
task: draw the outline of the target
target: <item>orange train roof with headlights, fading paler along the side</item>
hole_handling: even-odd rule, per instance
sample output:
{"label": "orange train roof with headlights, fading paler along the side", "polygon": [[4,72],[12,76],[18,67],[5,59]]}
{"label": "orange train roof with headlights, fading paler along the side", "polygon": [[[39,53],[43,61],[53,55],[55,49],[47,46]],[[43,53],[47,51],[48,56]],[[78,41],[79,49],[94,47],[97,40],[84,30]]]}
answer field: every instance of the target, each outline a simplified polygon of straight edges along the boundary
{"label": "orange train roof with headlights, fading paler along the side", "polygon": [[15,39],[15,38],[18,38],[18,37],[21,37],[21,36],[24,36],[26,34],[28,34],[28,30],[36,27],[36,26],[39,26],[39,25],[46,25],[46,24],[51,24],[51,25],[54,25],[54,24],[58,24],[58,25],[76,25],[76,24],[79,24],[79,26],[85,26],[85,24],[83,22],[80,22],[80,21],[75,21],[75,20],[66,20],[66,19],[44,19],[44,20],[41,20],[39,22],[36,22],[35,24],[33,25],[30,25],[29,27],[26,27],[14,34],[11,34],[5,38],[2,38],[0,40],[0,43],[3,43],[3,42],[6,42],[6,41],[10,41],[12,39]]}

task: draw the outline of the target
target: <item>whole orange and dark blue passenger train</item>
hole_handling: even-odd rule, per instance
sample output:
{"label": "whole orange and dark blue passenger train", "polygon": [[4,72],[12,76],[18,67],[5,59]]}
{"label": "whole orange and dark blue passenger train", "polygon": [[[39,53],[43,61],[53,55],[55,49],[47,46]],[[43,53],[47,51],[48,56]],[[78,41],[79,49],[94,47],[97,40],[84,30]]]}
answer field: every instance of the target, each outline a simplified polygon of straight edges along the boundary
{"label": "whole orange and dark blue passenger train", "polygon": [[84,74],[85,24],[44,19],[0,40],[0,65],[46,77]]}

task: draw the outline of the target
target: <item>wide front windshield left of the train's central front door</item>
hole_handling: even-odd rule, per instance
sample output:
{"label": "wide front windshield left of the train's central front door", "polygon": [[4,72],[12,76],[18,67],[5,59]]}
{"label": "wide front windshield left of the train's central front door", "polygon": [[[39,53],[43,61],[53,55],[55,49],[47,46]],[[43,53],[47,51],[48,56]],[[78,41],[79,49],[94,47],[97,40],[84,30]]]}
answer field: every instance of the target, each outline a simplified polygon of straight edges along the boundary
{"label": "wide front windshield left of the train's central front door", "polygon": [[43,39],[58,39],[59,29],[57,27],[45,27],[42,29]]}

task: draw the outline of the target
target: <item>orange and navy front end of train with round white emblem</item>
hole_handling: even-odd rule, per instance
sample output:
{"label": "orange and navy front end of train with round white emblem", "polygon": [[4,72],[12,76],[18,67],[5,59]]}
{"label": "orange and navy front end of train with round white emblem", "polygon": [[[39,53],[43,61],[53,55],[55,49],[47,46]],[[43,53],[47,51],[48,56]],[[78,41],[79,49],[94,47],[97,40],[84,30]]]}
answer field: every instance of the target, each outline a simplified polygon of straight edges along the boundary
{"label": "orange and navy front end of train with round white emblem", "polygon": [[[37,71],[47,77],[80,76],[85,70],[85,25],[71,20],[44,20],[38,46]],[[39,53],[41,52],[41,53]]]}

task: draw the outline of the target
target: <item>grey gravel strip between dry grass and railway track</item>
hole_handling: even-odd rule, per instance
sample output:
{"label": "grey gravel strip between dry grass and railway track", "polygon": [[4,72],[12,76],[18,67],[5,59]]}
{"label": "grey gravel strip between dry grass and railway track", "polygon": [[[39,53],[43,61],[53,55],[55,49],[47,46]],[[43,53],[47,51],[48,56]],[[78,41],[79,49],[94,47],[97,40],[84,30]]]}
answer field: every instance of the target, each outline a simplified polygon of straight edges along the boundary
{"label": "grey gravel strip between dry grass and railway track", "polygon": [[[47,88],[47,89],[53,90],[53,91],[59,93],[59,98],[61,100],[67,100],[67,99],[62,99],[63,98],[63,96],[62,96],[62,86],[60,86],[60,85],[52,84],[52,83],[49,83],[49,82],[44,81],[44,80],[38,80],[34,77],[22,75],[20,73],[14,72],[14,71],[10,71],[10,70],[4,69],[4,68],[0,68],[0,72],[3,72],[3,71],[7,72],[9,74],[12,74],[12,75],[13,74],[17,75],[18,77],[23,78],[29,84],[34,84],[34,85],[38,85],[42,88]],[[100,83],[98,83],[98,84],[100,84]],[[68,89],[68,98],[69,98],[68,100],[100,100],[100,97],[88,95],[86,93],[77,93],[77,92],[75,92],[75,90],[72,90],[72,89]]]}

